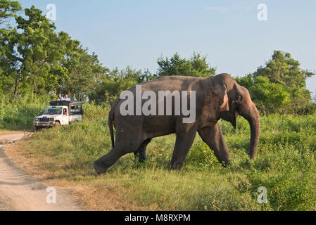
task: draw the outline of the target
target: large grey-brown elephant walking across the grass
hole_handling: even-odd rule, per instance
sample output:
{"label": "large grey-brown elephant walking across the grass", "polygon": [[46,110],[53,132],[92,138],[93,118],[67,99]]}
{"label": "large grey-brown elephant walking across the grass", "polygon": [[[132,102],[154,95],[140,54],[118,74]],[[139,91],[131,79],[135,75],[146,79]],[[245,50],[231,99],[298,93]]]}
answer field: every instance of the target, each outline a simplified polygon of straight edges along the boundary
{"label": "large grey-brown elephant walking across the grass", "polygon": [[[137,87],[132,86],[128,90],[136,94]],[[227,167],[231,158],[218,121],[220,119],[229,121],[236,129],[238,115],[244,117],[250,125],[248,157],[251,160],[255,157],[260,134],[259,113],[251,101],[248,90],[237,84],[229,74],[222,73],[213,77],[160,77],[141,83],[141,92],[144,93],[146,90],[153,91],[155,94],[158,94],[158,91],[187,91],[190,94],[191,91],[195,91],[195,120],[184,123],[183,119],[186,116],[175,115],[175,113],[172,115],[122,115],[120,106],[124,100],[117,98],[108,114],[113,148],[94,161],[94,169],[98,174],[106,172],[122,155],[127,153],[134,153],[140,161],[146,160],[146,146],[151,139],[168,134],[176,135],[170,169],[179,169],[194,142],[196,132],[213,150],[217,160]],[[144,101],[141,104],[144,104]],[[172,101],[172,109],[175,109],[175,101]],[[115,140],[113,126],[116,129]]]}

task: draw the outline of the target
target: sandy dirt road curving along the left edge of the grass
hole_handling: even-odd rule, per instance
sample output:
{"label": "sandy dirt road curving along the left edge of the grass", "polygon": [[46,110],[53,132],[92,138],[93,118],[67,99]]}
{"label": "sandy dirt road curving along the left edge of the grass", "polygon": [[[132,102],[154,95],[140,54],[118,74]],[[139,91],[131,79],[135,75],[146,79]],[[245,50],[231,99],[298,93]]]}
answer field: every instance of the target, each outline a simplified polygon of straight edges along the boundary
{"label": "sandy dirt road curving along the left edge of the grass", "polygon": [[[27,176],[9,159],[2,147],[23,139],[23,132],[0,134],[0,210],[82,210],[66,191],[56,190]],[[54,203],[56,196],[56,203]]]}

